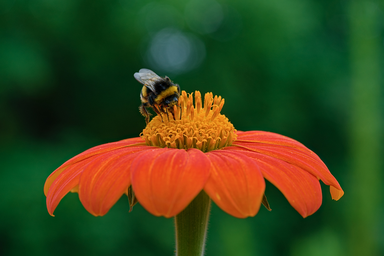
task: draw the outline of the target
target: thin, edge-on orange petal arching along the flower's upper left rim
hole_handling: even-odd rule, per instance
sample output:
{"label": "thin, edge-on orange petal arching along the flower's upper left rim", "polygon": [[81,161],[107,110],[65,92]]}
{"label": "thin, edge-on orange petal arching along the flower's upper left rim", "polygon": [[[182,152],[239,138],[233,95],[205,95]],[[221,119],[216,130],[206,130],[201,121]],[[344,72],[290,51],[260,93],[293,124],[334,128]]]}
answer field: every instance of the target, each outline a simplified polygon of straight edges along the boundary
{"label": "thin, edge-on orange petal arching along the flower's upper left rim", "polygon": [[44,184],[44,195],[46,196],[48,193],[48,189],[50,188],[52,182],[60,175],[61,172],[65,170],[66,167],[74,164],[80,160],[86,159],[93,155],[100,154],[102,152],[106,152],[113,149],[119,149],[121,147],[127,147],[129,145],[141,144],[144,143],[140,137],[124,139],[116,142],[106,143],[102,145],[98,145],[96,147],[91,147],[90,149],[85,150],[84,152],[72,157],[70,160],[66,161],[59,168],[57,168],[45,181]]}

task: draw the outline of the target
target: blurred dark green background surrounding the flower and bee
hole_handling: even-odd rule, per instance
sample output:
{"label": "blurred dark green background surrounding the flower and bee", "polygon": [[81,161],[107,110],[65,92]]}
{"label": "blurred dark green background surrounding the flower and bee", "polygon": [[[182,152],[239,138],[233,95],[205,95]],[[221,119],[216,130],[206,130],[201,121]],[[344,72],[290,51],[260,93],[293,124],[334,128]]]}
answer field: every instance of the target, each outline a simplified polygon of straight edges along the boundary
{"label": "blurred dark green background surrounding the flower and bee", "polygon": [[316,152],[345,195],[306,219],[213,205],[206,255],[384,255],[384,5],[363,0],[1,0],[0,254],[172,255],[173,220],[121,200],[103,217],[69,193],[51,217],[46,177],[94,145],[136,137],[140,68],[225,98],[238,130]]}

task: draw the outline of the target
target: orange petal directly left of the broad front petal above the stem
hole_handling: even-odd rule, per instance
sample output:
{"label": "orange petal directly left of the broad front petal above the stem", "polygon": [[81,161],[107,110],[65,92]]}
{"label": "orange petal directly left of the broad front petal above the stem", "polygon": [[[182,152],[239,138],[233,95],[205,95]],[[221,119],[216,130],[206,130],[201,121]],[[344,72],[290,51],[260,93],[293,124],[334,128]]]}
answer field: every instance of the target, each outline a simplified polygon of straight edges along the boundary
{"label": "orange petal directly left of the broad front petal above the stem", "polygon": [[79,199],[89,213],[103,216],[131,184],[131,163],[143,150],[154,147],[124,147],[93,156],[81,173]]}

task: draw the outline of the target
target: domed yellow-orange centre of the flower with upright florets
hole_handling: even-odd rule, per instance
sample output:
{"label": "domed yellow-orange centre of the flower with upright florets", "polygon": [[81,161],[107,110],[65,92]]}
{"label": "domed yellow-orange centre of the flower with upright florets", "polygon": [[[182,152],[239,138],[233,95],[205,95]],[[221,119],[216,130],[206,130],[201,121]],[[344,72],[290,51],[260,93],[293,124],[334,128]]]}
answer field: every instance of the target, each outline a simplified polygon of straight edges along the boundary
{"label": "domed yellow-orange centre of the flower with upright florets", "polygon": [[143,130],[141,137],[147,145],[174,149],[195,148],[202,152],[221,149],[236,140],[236,129],[228,118],[220,114],[224,99],[212,92],[204,96],[204,106],[199,91],[181,92],[177,106],[168,116],[155,116]]}

